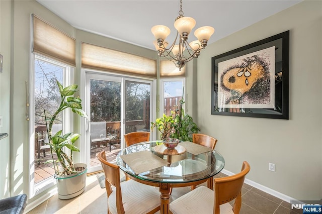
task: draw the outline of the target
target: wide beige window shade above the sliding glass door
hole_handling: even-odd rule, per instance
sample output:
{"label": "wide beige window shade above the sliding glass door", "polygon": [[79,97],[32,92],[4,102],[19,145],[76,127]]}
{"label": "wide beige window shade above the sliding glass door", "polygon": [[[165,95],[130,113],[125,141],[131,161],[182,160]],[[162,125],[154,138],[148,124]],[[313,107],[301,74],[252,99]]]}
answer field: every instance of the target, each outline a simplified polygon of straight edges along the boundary
{"label": "wide beige window shade above the sliding glass door", "polygon": [[82,43],[82,67],[156,78],[156,60]]}

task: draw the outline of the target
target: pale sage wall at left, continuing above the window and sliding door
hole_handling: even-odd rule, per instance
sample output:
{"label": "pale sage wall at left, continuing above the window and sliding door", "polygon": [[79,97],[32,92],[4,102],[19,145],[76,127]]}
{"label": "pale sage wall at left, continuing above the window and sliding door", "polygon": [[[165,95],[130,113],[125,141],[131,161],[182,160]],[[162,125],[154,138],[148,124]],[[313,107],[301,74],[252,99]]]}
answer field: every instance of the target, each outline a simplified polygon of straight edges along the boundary
{"label": "pale sage wall at left, continuing above the window and sliding door", "polygon": [[[30,41],[31,14],[35,14],[73,38],[76,38],[75,83],[80,83],[81,76],[81,41],[109,47],[115,50],[136,55],[156,58],[155,51],[129,45],[92,33],[78,31],[44,8],[36,1],[0,1],[1,10],[1,46],[5,56],[4,72],[0,74],[0,115],[4,116],[4,128],[0,132],[8,132],[10,137],[2,140],[0,149],[0,198],[20,193],[29,194],[29,121],[26,120],[26,88],[30,76]],[[74,120],[74,131],[80,131],[78,117]],[[78,146],[78,145],[77,145]],[[76,155],[75,155],[76,156]],[[75,161],[81,157],[76,156]],[[12,163],[12,164],[10,164]],[[28,199],[32,206],[50,196],[51,189]],[[36,201],[36,202],[35,202]]]}

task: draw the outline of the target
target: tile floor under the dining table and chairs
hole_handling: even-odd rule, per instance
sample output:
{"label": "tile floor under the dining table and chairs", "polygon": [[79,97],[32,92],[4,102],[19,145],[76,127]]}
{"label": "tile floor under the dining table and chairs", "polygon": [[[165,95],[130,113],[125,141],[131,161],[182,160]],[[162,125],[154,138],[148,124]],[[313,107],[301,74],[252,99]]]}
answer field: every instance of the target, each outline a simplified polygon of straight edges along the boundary
{"label": "tile floor under the dining table and chairs", "polygon": [[[223,177],[226,175],[219,173],[216,176]],[[189,187],[174,188],[171,195],[171,201],[187,193],[188,191],[190,191]],[[290,210],[289,203],[270,194],[267,194],[257,188],[254,188],[248,184],[244,184],[241,193],[241,214],[302,213],[302,210],[299,210],[300,212],[294,212],[293,210]],[[35,213],[107,213],[106,190],[105,188],[100,187],[96,175],[88,176],[86,190],[83,194],[68,200],[58,199],[57,195],[55,195],[28,212],[28,214]]]}

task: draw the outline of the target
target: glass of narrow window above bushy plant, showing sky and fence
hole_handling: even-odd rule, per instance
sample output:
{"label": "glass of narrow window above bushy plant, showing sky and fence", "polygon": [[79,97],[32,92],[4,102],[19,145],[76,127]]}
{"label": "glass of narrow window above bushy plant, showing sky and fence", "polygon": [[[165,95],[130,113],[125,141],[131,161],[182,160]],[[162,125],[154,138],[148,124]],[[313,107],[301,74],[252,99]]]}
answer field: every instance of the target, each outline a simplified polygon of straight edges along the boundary
{"label": "glass of narrow window above bushy plant, showing sky and fence", "polygon": [[180,105],[182,99],[183,83],[182,81],[164,81],[164,113],[169,116],[174,105]]}

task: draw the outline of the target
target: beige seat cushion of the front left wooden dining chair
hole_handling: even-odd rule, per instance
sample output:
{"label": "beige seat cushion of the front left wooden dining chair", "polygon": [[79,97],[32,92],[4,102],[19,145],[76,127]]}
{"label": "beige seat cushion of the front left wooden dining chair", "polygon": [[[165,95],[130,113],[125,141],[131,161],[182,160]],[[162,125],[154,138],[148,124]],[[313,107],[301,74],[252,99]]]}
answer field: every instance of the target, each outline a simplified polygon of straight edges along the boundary
{"label": "beige seat cushion of the front left wooden dining chair", "polygon": [[[108,207],[112,214],[117,214],[116,191],[108,197]],[[134,180],[121,182],[122,200],[125,213],[147,213],[160,205],[160,193],[157,188],[148,186]]]}

